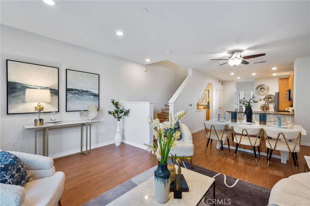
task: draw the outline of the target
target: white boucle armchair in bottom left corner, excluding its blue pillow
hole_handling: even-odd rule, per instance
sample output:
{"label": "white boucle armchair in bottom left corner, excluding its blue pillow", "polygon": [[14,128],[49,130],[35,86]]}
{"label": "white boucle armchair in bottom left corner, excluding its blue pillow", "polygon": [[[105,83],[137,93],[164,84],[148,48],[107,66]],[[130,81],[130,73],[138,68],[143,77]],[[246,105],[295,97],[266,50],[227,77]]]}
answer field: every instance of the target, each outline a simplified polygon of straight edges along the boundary
{"label": "white boucle armchair in bottom left corner, excluding its blue pillow", "polygon": [[40,155],[8,151],[25,165],[28,182],[24,186],[0,183],[2,206],[61,206],[64,173],[55,172],[53,159]]}

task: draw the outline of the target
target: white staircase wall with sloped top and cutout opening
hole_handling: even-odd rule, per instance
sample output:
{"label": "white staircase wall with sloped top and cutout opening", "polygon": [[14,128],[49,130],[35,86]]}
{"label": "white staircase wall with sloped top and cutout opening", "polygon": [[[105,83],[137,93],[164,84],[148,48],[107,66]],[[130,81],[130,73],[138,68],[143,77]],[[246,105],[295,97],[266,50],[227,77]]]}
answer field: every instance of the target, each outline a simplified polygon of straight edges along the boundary
{"label": "white staircase wall with sloped top and cutout opening", "polygon": [[[179,112],[180,110],[188,110],[188,113],[182,120],[182,123],[187,125],[191,132],[198,131],[204,128],[203,123],[206,121],[206,114],[204,112],[196,111],[196,104],[201,96],[201,93],[206,88],[208,83],[210,85],[209,95],[212,97],[213,94],[216,94],[216,89],[224,90],[223,85],[218,82],[214,77],[210,77],[204,73],[197,71],[196,69],[188,69],[190,78],[182,92],[179,94],[178,91],[172,96],[169,100],[169,104],[173,104],[173,113]],[[182,85],[181,85],[182,86]],[[215,116],[215,100],[216,98],[210,98],[212,102],[210,102],[210,107],[213,107],[213,110],[210,108],[210,112],[212,110],[212,114],[210,113],[210,118]],[[192,104],[192,106],[190,106]],[[170,107],[171,108],[171,107]],[[171,108],[171,109],[172,109]],[[170,110],[171,111],[171,110]]]}

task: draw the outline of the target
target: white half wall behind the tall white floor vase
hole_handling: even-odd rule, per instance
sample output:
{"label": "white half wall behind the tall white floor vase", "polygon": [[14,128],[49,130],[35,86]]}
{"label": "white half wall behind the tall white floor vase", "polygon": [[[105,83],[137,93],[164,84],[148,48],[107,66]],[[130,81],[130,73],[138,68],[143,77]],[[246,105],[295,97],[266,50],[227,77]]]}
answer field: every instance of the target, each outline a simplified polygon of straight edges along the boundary
{"label": "white half wall behind the tall white floor vase", "polygon": [[120,104],[125,109],[130,109],[129,115],[121,119],[122,142],[146,149],[143,144],[153,142],[153,131],[147,119],[148,116],[153,119],[154,102],[120,102]]}

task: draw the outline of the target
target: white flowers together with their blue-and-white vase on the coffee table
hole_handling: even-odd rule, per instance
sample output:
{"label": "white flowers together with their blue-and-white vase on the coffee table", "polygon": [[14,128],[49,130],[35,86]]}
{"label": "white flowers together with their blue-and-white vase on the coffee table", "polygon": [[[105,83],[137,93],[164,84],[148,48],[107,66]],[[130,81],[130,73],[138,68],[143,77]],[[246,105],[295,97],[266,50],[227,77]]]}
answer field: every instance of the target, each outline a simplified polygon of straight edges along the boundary
{"label": "white flowers together with their blue-and-white vase on the coffee table", "polygon": [[186,158],[182,156],[171,156],[170,149],[175,149],[176,140],[181,135],[181,128],[178,126],[180,119],[183,119],[187,110],[179,111],[175,114],[174,119],[170,113],[170,121],[165,121],[160,123],[159,119],[152,119],[148,117],[148,124],[151,125],[153,129],[153,134],[155,136],[155,141],[153,144],[145,144],[147,146],[148,152],[155,154],[158,159],[157,169],[154,171],[154,186],[155,186],[155,197],[157,202],[165,203],[168,201],[169,189],[170,189],[170,172],[167,167],[167,162],[173,158]]}

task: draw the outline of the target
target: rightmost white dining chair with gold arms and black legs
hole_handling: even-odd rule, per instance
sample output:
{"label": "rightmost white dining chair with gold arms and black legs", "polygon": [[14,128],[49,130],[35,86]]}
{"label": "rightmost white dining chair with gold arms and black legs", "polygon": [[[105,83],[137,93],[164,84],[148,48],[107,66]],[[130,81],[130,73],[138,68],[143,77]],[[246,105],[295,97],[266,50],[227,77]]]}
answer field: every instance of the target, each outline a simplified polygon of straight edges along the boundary
{"label": "rightmost white dining chair with gold arms and black legs", "polygon": [[[267,147],[267,156],[270,149],[267,167],[269,167],[273,150],[286,151],[292,154],[296,173],[298,173],[297,152],[299,152],[300,150],[301,130],[294,131],[287,129],[287,131],[279,131],[277,128],[264,128],[263,134]],[[270,137],[271,139],[268,137]]]}

